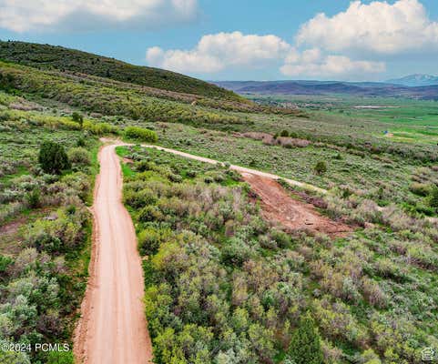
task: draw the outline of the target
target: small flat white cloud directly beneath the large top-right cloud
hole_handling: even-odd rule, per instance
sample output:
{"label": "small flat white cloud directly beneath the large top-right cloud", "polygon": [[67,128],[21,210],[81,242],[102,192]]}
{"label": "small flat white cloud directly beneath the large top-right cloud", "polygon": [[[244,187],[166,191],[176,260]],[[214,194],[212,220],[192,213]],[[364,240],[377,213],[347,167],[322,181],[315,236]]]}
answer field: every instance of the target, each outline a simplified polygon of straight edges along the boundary
{"label": "small flat white cloud directly beneath the large top-right cloud", "polygon": [[355,61],[347,56],[321,56],[315,49],[311,56],[304,51],[294,62],[286,63],[280,67],[285,76],[291,77],[336,77],[362,79],[371,74],[382,73],[386,66],[382,62]]}

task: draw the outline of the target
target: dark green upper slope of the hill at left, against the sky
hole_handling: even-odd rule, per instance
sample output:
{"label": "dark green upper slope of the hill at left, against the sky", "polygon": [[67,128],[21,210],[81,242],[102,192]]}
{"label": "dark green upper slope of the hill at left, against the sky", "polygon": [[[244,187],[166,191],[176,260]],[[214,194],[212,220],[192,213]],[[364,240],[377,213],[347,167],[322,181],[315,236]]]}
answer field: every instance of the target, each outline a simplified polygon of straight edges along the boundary
{"label": "dark green upper slope of the hill at left, against the sky", "polygon": [[245,100],[231,91],[196,78],[146,66],[133,66],[114,58],[55,45],[0,41],[0,59],[42,69],[58,69],[179,93],[230,101]]}

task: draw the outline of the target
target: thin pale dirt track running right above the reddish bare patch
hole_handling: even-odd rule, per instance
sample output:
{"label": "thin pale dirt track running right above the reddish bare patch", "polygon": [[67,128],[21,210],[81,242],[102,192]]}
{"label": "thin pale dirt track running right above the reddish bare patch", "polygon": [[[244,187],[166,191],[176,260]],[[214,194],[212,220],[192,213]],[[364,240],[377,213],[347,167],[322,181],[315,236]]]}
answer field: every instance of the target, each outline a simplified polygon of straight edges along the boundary
{"label": "thin pale dirt track running right above the reddish bare patch", "polygon": [[[190,159],[199,160],[199,161],[205,162],[205,163],[210,163],[210,164],[223,163],[223,162],[219,162],[218,160],[215,160],[215,159],[210,159],[210,158],[206,158],[206,157],[199,157],[199,156],[195,156],[195,155],[192,155],[192,154],[188,154],[186,152],[181,152],[181,151],[176,150],[176,149],[169,149],[167,147],[158,147],[158,146],[148,145],[148,144],[142,144],[141,146],[142,147],[148,147],[148,148],[155,148],[155,149],[158,149],[158,150],[163,150],[163,151],[168,152],[168,153],[173,153],[173,154],[181,156],[181,157],[186,157],[186,158],[190,158]],[[251,175],[260,176],[260,177],[267,177],[267,178],[271,178],[271,179],[274,179],[274,180],[282,179],[282,180],[288,182],[291,186],[301,187],[301,188],[304,188],[304,189],[307,189],[307,190],[312,190],[312,191],[315,191],[315,192],[319,192],[321,194],[326,194],[327,193],[327,190],[323,189],[321,187],[316,187],[316,186],[310,185],[308,183],[296,181],[295,179],[283,178],[283,177],[280,177],[278,175],[273,175],[272,173],[261,172],[260,170],[257,170],[257,169],[251,169],[251,168],[247,168],[247,167],[240,167],[240,166],[236,166],[236,165],[231,165],[231,166],[229,166],[229,168],[233,169],[235,171],[238,171],[239,173],[250,173]]]}

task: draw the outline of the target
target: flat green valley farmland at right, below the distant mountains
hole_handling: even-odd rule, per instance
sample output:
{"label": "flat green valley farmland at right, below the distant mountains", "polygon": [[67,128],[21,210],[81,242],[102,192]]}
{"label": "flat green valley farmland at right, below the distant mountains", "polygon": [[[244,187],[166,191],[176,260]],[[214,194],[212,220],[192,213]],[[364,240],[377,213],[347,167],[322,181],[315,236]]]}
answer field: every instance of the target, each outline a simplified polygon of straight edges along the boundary
{"label": "flat green valley farmland at right, below the distant mountains", "polygon": [[250,96],[270,105],[303,107],[322,123],[344,125],[352,131],[392,141],[434,144],[438,142],[438,106],[435,101],[355,96]]}

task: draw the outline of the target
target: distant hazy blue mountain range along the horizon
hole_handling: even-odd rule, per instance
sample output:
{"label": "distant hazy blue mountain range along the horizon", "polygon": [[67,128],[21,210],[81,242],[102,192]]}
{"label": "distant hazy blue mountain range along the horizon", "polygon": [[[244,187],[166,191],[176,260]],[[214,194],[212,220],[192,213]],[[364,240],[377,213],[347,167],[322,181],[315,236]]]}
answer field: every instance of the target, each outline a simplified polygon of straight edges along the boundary
{"label": "distant hazy blue mountain range along the horizon", "polygon": [[216,81],[215,85],[240,95],[351,95],[407,97],[438,100],[438,82],[432,86],[403,86],[393,81],[339,82],[339,81]]}

